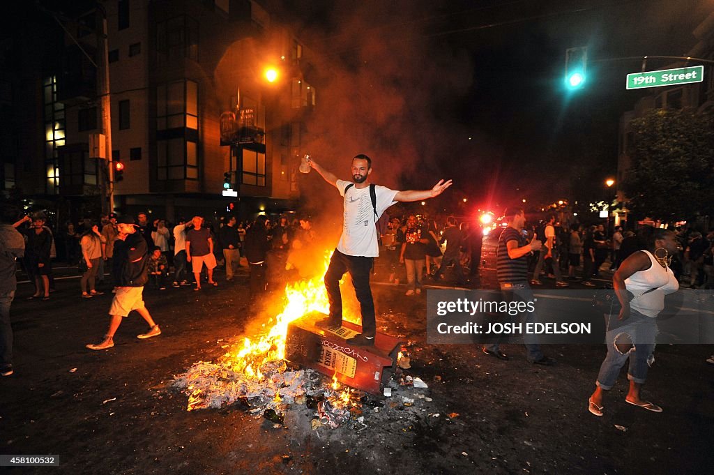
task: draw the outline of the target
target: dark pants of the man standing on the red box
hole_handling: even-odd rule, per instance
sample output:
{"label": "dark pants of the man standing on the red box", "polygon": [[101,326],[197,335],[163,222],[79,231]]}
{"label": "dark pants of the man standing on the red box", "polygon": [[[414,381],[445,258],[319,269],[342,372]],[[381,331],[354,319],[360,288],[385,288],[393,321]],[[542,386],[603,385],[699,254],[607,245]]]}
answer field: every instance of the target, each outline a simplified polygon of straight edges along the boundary
{"label": "dark pants of the man standing on the red box", "polygon": [[[423,261],[423,259],[422,259]],[[359,301],[362,314],[362,334],[374,336],[377,331],[374,316],[374,300],[369,286],[369,274],[372,270],[373,257],[347,256],[335,249],[330,259],[330,266],[325,273],[325,288],[330,300],[330,321],[338,325],[342,322],[342,295],[340,294],[340,279],[345,272],[350,273],[355,294]]]}

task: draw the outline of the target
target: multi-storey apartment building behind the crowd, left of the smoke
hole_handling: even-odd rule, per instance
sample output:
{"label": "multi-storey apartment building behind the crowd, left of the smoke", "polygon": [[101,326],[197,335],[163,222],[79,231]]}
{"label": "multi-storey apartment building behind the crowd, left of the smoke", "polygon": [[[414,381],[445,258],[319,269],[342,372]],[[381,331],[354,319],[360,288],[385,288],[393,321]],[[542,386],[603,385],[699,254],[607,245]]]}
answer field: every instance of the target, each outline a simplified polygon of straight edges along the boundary
{"label": "multi-storey apartment building behind the crowd, left of the smoke", "polygon": [[[89,136],[102,127],[98,32],[106,17],[111,157],[124,165],[115,209],[170,220],[230,207],[243,218],[293,209],[316,91],[303,74],[308,50],[291,31],[252,0],[97,3],[74,16],[45,13],[63,29],[44,19],[55,40],[35,46],[51,49],[44,56],[54,61],[29,73],[33,101],[16,98],[38,111],[22,141],[40,145],[30,153],[24,146],[25,169],[4,164],[4,186],[21,182],[34,199],[63,203],[66,219],[99,209],[107,161],[91,156]],[[272,82],[268,67],[277,71]],[[237,197],[223,196],[226,174]]]}

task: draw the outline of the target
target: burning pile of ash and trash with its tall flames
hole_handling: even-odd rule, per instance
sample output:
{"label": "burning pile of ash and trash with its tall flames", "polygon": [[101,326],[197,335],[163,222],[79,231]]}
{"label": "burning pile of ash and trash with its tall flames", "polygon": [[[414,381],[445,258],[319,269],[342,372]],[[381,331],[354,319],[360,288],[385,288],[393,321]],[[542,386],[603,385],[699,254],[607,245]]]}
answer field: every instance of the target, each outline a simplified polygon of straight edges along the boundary
{"label": "burning pile of ash and trash with its tall flames", "polygon": [[[327,269],[330,253],[326,253]],[[332,384],[312,369],[288,369],[285,344],[288,324],[311,311],[326,313],[328,298],[322,276],[286,286],[285,309],[268,330],[255,341],[245,338],[215,363],[198,361],[176,376],[174,386],[188,395],[186,409],[221,407],[242,402],[253,414],[282,424],[281,411],[292,404],[312,403],[321,421],[336,427],[346,422],[350,410],[360,404],[361,391],[341,389],[336,377]],[[312,409],[312,408],[311,408]]]}

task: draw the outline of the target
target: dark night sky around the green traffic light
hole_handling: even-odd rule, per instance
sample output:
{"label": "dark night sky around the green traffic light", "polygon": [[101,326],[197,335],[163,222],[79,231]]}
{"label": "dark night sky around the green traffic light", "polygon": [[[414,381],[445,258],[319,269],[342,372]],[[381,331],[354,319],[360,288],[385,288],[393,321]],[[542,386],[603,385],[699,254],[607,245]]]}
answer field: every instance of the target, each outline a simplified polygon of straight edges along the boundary
{"label": "dark night sky around the green traffic light", "polygon": [[[355,114],[372,134],[346,142],[362,147],[355,153],[374,154],[376,174],[384,171],[381,159],[396,158],[376,181],[418,187],[431,186],[436,175],[450,177],[455,191],[486,206],[596,195],[616,172],[620,115],[643,95],[625,90],[639,59],[598,60],[686,56],[697,42],[693,29],[713,6],[697,0],[268,4],[286,7],[291,23],[301,19],[295,26],[306,44],[328,52],[331,67],[343,64],[344,74],[373,94],[373,116]],[[574,94],[563,88],[565,49],[572,46],[588,46],[591,60],[588,83]],[[648,70],[667,65],[650,60]],[[345,95],[348,85],[334,77],[328,88]],[[375,109],[384,109],[386,119]]]}

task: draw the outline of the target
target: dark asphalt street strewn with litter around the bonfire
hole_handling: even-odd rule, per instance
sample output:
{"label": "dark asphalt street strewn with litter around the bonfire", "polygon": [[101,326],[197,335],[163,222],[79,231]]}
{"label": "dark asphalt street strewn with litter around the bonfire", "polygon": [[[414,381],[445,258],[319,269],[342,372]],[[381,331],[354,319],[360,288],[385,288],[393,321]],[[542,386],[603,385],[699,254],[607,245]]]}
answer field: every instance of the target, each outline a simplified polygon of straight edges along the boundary
{"label": "dark asphalt street strewn with litter around the bonfire", "polygon": [[[488,255],[483,267],[481,285],[493,288]],[[361,431],[314,429],[313,411],[295,406],[276,429],[239,406],[186,411],[186,394],[171,387],[176,374],[216,359],[271,316],[267,299],[248,296],[245,272],[232,282],[219,272],[219,286],[201,292],[147,288],[161,336],[136,339],[146,325],[134,314],[113,349],[89,351],[84,345],[106,331],[111,289],[81,299],[76,271],[59,270],[68,278],[57,279],[50,301],[26,301],[31,286],[19,285],[15,374],[0,379],[0,453],[54,454],[54,473],[684,474],[714,464],[711,346],[658,346],[643,394],[663,414],[625,404],[623,372],[597,418],[587,400],[603,345],[546,345],[552,367],[529,364],[518,344],[503,347],[511,361],[473,344],[428,345],[431,289],[408,297],[405,286],[376,279],[378,327],[408,341],[408,374],[427,382],[431,401],[406,407],[379,397],[381,411],[365,409]]]}

